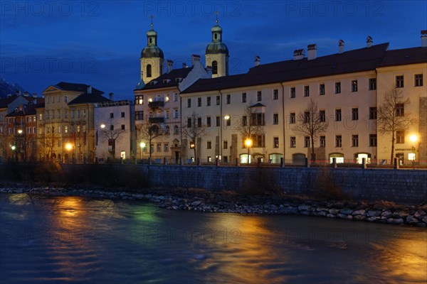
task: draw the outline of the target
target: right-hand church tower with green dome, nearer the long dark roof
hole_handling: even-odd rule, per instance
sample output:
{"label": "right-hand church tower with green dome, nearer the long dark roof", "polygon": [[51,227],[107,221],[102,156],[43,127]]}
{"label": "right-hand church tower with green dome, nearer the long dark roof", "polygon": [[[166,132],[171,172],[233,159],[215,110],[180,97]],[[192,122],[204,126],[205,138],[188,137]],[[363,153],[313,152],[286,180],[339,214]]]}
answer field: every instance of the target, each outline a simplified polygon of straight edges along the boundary
{"label": "right-hand church tower with green dome, nearer the long dark roof", "polygon": [[212,42],[206,46],[206,67],[212,67],[212,77],[228,75],[228,48],[222,42],[222,28],[218,26],[218,13],[216,13],[216,25],[211,28]]}

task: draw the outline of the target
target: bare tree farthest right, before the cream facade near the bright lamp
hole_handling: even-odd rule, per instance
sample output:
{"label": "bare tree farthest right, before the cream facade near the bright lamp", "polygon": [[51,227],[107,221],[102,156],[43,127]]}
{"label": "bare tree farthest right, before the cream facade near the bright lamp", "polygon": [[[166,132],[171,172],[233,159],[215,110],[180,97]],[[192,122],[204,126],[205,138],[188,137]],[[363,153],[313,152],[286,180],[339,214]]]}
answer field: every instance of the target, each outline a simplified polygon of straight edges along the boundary
{"label": "bare tree farthest right, before the cream facade near the bright lamp", "polygon": [[396,142],[396,131],[406,131],[416,119],[411,119],[411,114],[405,111],[410,104],[409,99],[404,99],[401,89],[390,89],[385,93],[382,104],[377,110],[376,123],[378,131],[383,134],[391,134],[391,155],[394,158],[394,143]]}

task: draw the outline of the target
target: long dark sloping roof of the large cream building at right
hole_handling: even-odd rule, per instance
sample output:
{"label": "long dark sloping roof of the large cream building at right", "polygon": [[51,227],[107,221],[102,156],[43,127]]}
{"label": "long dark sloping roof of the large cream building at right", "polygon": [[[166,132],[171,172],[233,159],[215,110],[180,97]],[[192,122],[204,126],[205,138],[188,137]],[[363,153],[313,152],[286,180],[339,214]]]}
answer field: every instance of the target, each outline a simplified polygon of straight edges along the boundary
{"label": "long dark sloping roof of the large cream building at right", "polygon": [[389,43],[372,45],[344,53],[321,56],[314,60],[285,60],[252,67],[246,74],[197,80],[182,94],[237,87],[290,82],[312,77],[324,77],[376,70],[378,67],[427,62],[427,48],[387,50]]}

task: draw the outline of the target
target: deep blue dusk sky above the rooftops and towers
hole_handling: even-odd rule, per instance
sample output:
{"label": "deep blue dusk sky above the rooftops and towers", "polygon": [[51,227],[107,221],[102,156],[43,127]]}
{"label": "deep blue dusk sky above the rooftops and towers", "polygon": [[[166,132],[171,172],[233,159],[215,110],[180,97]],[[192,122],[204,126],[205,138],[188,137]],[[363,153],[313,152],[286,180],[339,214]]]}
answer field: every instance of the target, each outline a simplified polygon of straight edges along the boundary
{"label": "deep blue dusk sky above the rooftops and towers", "polygon": [[166,59],[204,59],[218,11],[230,73],[292,59],[317,44],[317,56],[363,48],[367,35],[389,49],[418,47],[427,1],[0,1],[0,76],[41,94],[57,82],[91,84],[133,99],[150,15]]}

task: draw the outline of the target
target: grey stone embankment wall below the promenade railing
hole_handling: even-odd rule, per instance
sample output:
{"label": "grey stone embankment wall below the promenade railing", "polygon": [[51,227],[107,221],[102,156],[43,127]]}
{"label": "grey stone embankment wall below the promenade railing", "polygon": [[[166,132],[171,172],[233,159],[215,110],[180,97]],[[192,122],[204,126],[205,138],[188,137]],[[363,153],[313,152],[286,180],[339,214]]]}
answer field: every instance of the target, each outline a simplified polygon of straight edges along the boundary
{"label": "grey stone embankment wall below the promenade railing", "polygon": [[[290,195],[312,195],[338,189],[353,200],[387,200],[404,204],[427,202],[427,170],[355,168],[255,168],[197,165],[62,165],[65,175],[73,167],[114,167],[122,177],[137,177],[150,187],[198,187],[206,190],[245,190],[248,187],[282,190]],[[111,173],[111,169],[109,171]],[[130,174],[132,173],[132,174]]]}

